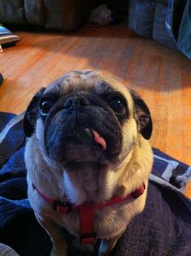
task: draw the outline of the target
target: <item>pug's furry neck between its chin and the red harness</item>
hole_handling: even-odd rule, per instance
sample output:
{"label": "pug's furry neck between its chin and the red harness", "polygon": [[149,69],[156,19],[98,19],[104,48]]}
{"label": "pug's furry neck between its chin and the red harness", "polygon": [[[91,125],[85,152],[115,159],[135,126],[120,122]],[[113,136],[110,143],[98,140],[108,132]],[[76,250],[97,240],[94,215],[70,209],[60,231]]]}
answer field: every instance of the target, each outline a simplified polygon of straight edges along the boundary
{"label": "pug's furry neck between its chin and the red harness", "polygon": [[[121,167],[116,164],[98,167],[98,163],[81,163],[80,167],[73,170],[66,171],[59,167],[59,170],[49,171],[46,175],[45,171],[39,170],[38,180],[35,176],[31,180],[43,189],[42,192],[48,193],[49,197],[58,197],[61,201],[69,201],[75,205],[99,203],[113,196],[124,196],[137,189],[151,171],[148,170],[150,155],[147,141],[142,141],[142,146],[134,146],[134,150],[123,160]],[[129,167],[134,171],[129,171]],[[57,175],[54,175],[55,173]]]}

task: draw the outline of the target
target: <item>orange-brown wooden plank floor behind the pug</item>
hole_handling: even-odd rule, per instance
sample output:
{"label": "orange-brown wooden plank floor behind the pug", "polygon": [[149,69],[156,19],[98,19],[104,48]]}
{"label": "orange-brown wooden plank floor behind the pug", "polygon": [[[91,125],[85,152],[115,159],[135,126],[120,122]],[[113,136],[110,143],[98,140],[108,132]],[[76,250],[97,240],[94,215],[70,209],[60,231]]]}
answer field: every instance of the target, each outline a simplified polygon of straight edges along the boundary
{"label": "orange-brown wooden plank floor behind the pug", "polygon": [[[75,33],[15,32],[0,54],[0,111],[26,109],[36,90],[76,69],[96,69],[142,95],[151,109],[151,145],[191,165],[191,61],[125,25]],[[187,188],[191,193],[191,185]],[[189,193],[188,192],[188,193]]]}

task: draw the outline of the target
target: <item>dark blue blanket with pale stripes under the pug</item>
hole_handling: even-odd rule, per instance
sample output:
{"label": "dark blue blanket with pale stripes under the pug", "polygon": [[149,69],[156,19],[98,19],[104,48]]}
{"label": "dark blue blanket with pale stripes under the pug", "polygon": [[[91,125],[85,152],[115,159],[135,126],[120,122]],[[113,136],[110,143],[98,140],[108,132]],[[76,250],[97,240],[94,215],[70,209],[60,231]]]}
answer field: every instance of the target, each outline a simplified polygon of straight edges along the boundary
{"label": "dark blue blanket with pale stripes under the pug", "polygon": [[[0,112],[0,242],[20,256],[45,256],[51,242],[28,202],[22,124],[23,115]],[[191,255],[191,202],[182,193],[191,168],[159,150],[154,153],[146,208],[129,223],[112,255]],[[78,249],[70,249],[70,255],[91,255]]]}

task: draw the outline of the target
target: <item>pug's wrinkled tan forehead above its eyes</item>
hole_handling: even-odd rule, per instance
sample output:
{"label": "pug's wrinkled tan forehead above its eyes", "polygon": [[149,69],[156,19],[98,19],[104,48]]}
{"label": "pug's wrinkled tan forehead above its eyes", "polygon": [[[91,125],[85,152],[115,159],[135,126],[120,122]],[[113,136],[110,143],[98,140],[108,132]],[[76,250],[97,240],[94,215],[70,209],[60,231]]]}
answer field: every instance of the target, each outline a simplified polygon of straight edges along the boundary
{"label": "pug's wrinkled tan forehead above its eyes", "polygon": [[103,76],[100,72],[90,70],[70,72],[45,89],[45,93],[59,93],[61,96],[80,91],[95,93],[98,96],[117,91],[126,98],[129,108],[133,108],[129,90],[117,80]]}

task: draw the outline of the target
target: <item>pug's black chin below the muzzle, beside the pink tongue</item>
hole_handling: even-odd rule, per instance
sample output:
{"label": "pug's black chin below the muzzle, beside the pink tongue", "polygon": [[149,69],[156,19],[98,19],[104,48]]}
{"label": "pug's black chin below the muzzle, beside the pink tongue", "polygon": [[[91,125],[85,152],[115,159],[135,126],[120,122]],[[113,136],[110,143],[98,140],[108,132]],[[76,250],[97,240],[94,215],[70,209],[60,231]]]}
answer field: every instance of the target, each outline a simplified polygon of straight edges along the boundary
{"label": "pug's black chin below the muzzle, beside the pink tongue", "polygon": [[60,143],[55,143],[53,150],[49,151],[49,157],[65,168],[79,168],[84,164],[106,165],[111,161],[107,149],[95,141],[91,129],[84,126],[74,128]]}

